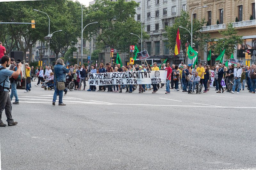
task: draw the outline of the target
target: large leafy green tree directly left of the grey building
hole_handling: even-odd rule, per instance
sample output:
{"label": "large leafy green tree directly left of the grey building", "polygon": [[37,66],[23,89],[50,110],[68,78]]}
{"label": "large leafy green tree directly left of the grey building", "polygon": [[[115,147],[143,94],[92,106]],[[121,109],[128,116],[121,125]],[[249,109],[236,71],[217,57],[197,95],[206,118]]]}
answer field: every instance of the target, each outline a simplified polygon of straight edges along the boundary
{"label": "large leafy green tree directly left of the grey building", "polygon": [[[97,0],[95,4],[88,7],[84,18],[87,24],[95,21],[98,24],[86,27],[85,35],[96,34],[97,47],[101,47],[101,49],[110,47],[121,52],[128,52],[129,45],[139,42],[136,35],[141,34],[141,23],[134,20],[137,6],[138,3],[135,1]],[[149,38],[145,31],[143,31],[143,38]]]}

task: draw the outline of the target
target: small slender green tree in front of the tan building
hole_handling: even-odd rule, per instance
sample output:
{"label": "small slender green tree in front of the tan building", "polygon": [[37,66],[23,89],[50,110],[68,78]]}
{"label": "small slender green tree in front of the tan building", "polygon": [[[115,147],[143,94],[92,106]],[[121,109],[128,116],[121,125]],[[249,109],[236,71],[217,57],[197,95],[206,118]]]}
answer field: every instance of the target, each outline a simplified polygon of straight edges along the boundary
{"label": "small slender green tree in front of the tan building", "polygon": [[229,59],[231,54],[236,50],[236,45],[243,42],[242,36],[238,36],[237,32],[232,23],[229,23],[225,30],[219,31],[222,38],[217,39],[216,44],[214,44],[214,53],[220,54],[220,50],[223,51],[226,49],[225,54],[227,59]]}

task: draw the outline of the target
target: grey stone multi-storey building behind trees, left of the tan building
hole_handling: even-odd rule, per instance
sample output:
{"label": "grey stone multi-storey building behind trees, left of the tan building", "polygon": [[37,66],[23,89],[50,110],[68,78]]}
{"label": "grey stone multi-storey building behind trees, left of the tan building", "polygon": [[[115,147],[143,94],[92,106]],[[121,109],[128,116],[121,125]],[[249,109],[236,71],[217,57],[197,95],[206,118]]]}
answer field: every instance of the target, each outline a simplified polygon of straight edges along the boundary
{"label": "grey stone multi-storey building behind trees, left of the tan building", "polygon": [[[144,31],[150,38],[143,39],[143,49],[148,51],[152,58],[169,58],[174,61],[174,52],[167,47],[165,26],[172,26],[175,17],[180,16],[182,10],[187,11],[186,0],[136,0],[139,7],[136,9],[135,20],[143,23]],[[176,36],[176,35],[174,35]],[[140,44],[138,44],[140,46]],[[140,48],[139,48],[140,49]],[[183,54],[185,57],[185,54]],[[174,63],[178,64],[182,56],[176,56]]]}

